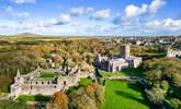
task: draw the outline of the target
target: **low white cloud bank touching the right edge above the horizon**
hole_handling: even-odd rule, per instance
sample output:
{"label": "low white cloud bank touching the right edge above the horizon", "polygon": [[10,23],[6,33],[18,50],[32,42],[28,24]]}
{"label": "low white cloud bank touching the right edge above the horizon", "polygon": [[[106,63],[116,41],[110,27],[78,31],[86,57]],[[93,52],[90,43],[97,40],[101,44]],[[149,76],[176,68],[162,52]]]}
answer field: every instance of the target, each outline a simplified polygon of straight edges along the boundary
{"label": "low white cloud bank touching the right edge above the horizon", "polygon": [[151,21],[146,26],[152,31],[181,31],[181,20],[165,19]]}

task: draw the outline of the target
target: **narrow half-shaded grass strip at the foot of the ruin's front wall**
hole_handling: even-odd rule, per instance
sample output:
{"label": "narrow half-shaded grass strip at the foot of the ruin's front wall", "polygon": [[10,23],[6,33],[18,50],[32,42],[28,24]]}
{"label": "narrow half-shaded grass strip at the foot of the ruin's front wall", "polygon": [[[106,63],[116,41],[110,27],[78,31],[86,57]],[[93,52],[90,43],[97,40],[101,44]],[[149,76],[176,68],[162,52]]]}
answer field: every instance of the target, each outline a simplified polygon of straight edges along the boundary
{"label": "narrow half-shaded grass strip at the foot of the ruin's front wall", "polygon": [[36,95],[36,96],[21,95],[15,100],[16,101],[49,101],[50,97],[42,96],[42,95]]}

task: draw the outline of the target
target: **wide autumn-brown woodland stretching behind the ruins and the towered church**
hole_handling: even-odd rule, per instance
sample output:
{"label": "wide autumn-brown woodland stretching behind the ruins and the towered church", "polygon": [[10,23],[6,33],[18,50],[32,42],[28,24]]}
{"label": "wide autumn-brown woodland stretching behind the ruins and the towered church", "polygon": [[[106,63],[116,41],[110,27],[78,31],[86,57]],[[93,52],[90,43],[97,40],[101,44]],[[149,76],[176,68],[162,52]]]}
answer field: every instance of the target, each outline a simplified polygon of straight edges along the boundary
{"label": "wide autumn-brown woodland stretching behind the ruins and the towered church", "polygon": [[[14,38],[15,40],[15,38]],[[13,40],[13,41],[14,41]],[[31,38],[31,43],[33,43]],[[8,40],[9,41],[9,40]],[[30,41],[30,38],[23,38],[21,41]],[[16,40],[15,43],[20,43]],[[91,68],[98,53],[113,57],[118,55],[120,45],[116,43],[106,43],[101,38],[68,39],[55,40],[43,44],[13,44],[0,46],[0,92],[9,92],[9,86],[13,82],[13,77],[19,69],[22,74],[29,73],[37,65],[48,69],[47,58],[53,53],[57,55],[55,59],[55,68],[63,64],[63,59],[68,59],[70,68],[80,65]],[[160,47],[140,47],[132,46],[131,53],[139,56],[142,52],[152,51],[159,52],[163,48]]]}

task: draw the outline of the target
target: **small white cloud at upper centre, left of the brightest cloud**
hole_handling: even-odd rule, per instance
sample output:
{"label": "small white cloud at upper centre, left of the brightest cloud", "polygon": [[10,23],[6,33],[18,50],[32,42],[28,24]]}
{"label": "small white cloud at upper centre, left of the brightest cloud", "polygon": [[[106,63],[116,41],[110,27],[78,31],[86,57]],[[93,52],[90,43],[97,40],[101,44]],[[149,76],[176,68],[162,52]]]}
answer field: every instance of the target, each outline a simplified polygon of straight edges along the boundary
{"label": "small white cloud at upper centre, left of the brightest cloud", "polygon": [[92,16],[92,19],[94,20],[103,20],[109,17],[110,17],[110,9],[97,11]]}

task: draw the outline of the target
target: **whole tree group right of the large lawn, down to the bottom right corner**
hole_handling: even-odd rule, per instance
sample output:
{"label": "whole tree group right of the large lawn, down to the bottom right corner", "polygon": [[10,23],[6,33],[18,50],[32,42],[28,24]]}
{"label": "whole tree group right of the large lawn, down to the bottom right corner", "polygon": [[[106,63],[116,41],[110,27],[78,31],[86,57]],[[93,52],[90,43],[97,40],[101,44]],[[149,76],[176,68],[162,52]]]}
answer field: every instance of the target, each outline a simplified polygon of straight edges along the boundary
{"label": "whole tree group right of the large lawn, down to the bottom right corner", "polygon": [[169,101],[174,109],[181,108],[181,60],[161,58],[145,61],[144,77],[151,85],[149,100],[155,105]]}

